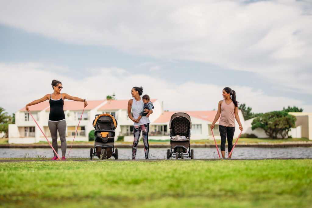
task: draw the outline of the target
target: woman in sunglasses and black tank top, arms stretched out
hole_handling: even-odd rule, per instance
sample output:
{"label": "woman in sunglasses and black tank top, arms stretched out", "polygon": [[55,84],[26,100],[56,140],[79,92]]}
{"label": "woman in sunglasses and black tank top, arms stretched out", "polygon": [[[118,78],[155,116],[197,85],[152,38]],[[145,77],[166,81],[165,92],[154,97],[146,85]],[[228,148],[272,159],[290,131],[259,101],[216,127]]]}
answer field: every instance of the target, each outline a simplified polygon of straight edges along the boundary
{"label": "woman in sunglasses and black tank top, arms stretched out", "polygon": [[[49,122],[48,126],[51,133],[52,138],[52,147],[57,152],[58,145],[57,145],[57,131],[60,135],[61,140],[61,149],[62,149],[62,160],[65,159],[66,154],[66,138],[65,138],[65,132],[66,132],[66,120],[65,120],[65,114],[64,114],[64,100],[74,100],[74,101],[80,101],[84,102],[85,106],[88,105],[87,101],[85,99],[81,99],[78,97],[72,97],[69,94],[61,93],[62,83],[58,80],[52,80],[52,87],[53,87],[53,93],[52,94],[46,94],[43,98],[37,99],[32,101],[31,103],[28,103],[26,105],[26,110],[29,111],[28,106],[35,105],[41,102],[44,102],[46,100],[49,100],[50,103],[50,114],[49,114]],[[56,153],[54,153],[54,157],[52,160],[57,160]]]}

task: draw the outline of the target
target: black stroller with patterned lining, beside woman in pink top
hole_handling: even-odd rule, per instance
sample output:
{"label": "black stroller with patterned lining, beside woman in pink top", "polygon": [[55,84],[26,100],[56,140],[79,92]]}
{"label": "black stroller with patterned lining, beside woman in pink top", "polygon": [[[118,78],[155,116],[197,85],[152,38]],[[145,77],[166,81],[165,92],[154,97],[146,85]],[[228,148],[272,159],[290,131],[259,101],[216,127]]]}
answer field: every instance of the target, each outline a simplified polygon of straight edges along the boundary
{"label": "black stroller with patterned lining, beside woman in pink top", "polygon": [[[186,113],[175,113],[171,116],[170,123],[170,149],[167,150],[167,159],[174,157],[176,159],[193,159],[194,150],[191,150],[191,128],[192,121]],[[181,139],[178,136],[185,136]],[[174,138],[173,138],[174,137]]]}

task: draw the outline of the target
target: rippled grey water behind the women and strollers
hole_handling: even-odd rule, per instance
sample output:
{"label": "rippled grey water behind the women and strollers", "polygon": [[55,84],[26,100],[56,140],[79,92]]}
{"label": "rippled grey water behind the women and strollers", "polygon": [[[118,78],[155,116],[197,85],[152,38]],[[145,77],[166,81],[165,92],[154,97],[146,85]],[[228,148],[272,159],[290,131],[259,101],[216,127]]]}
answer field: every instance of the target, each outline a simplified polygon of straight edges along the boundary
{"label": "rippled grey water behind the women and strollers", "polygon": [[[193,148],[194,159],[217,159],[218,153],[216,148]],[[66,157],[69,149],[67,149]],[[61,155],[61,148],[58,154]],[[165,159],[167,148],[150,148],[150,159]],[[51,148],[0,148],[0,158],[12,157],[36,157],[36,156],[53,157]],[[220,152],[221,155],[221,152]],[[73,148],[69,158],[85,157],[89,158],[90,148]],[[226,151],[227,157],[227,151]],[[95,158],[98,158],[95,156]],[[118,148],[119,159],[131,159],[131,148]],[[144,149],[138,148],[137,159],[144,159]],[[263,158],[312,158],[312,147],[290,147],[290,148],[234,148],[232,153],[233,159],[263,159]],[[110,159],[115,159],[111,157]]]}

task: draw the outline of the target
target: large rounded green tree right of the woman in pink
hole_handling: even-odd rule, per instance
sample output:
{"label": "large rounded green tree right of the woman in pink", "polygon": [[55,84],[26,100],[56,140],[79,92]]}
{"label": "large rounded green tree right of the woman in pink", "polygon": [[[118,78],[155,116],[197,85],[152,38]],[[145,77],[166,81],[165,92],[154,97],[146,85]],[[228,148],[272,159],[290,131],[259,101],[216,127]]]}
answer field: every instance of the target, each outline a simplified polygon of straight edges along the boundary
{"label": "large rounded green tree right of the woman in pink", "polygon": [[281,138],[289,137],[290,128],[295,127],[297,118],[285,111],[273,111],[256,117],[251,123],[251,129],[262,128],[266,135],[276,139],[278,135]]}

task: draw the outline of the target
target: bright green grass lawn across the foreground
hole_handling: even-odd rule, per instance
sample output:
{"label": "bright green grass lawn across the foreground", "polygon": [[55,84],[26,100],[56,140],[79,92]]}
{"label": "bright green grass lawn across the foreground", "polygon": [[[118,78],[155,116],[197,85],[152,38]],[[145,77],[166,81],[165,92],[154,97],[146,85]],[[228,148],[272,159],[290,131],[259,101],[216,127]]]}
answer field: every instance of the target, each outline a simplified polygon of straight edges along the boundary
{"label": "bright green grass lawn across the foreground", "polygon": [[312,160],[0,162],[1,207],[311,207]]}

